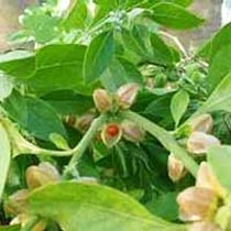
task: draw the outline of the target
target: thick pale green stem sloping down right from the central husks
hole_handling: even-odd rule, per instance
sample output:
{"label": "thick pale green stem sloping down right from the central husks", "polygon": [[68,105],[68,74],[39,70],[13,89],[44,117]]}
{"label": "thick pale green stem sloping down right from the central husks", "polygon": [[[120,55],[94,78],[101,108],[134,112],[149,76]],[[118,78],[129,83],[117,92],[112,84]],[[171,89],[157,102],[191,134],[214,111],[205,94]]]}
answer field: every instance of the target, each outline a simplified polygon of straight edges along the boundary
{"label": "thick pale green stem sloping down right from the central husks", "polygon": [[174,153],[174,155],[176,155],[176,157],[184,163],[185,167],[191,173],[191,175],[196,177],[198,170],[197,163],[183,147],[178,145],[175,139],[165,129],[132,111],[124,111],[122,112],[122,116],[138,123],[145,131],[154,135],[163,144],[163,146],[169,152]]}

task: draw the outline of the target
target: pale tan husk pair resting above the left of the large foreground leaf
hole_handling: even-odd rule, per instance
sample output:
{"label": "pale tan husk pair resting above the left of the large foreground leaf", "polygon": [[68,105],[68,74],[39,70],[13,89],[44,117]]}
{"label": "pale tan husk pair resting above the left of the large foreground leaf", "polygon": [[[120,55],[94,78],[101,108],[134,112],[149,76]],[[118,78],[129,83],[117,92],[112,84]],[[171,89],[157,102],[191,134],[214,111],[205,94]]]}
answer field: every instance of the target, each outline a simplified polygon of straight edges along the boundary
{"label": "pale tan husk pair resting above the left of the large foreground leaf", "polygon": [[37,188],[48,183],[57,182],[59,174],[50,163],[41,163],[38,166],[30,166],[25,172],[26,183],[30,189]]}

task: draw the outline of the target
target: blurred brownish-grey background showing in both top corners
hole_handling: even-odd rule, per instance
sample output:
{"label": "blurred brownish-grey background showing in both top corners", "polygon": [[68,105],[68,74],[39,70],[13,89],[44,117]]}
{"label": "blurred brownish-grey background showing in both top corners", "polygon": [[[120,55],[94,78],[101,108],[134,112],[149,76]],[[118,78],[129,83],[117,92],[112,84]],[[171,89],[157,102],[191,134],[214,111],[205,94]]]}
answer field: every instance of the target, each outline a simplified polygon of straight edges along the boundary
{"label": "blurred brownish-grey background showing in both top corners", "polygon": [[[0,0],[0,51],[10,48],[7,37],[19,28],[23,9],[40,3],[38,0]],[[185,47],[195,47],[221,25],[231,21],[231,0],[195,0],[190,9],[206,19],[204,26],[176,34]]]}

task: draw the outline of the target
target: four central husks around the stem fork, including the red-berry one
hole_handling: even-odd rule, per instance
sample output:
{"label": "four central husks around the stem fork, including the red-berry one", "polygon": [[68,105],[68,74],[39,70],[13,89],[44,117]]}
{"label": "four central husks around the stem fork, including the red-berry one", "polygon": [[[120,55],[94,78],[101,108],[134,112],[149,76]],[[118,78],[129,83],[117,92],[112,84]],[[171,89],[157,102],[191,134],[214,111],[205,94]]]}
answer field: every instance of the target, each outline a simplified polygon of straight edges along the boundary
{"label": "four central husks around the stem fork, including the red-berry one", "polygon": [[[138,92],[138,84],[123,85],[114,94],[109,94],[105,89],[97,89],[94,91],[95,106],[101,113],[128,110],[134,103]],[[129,120],[106,123],[101,130],[101,139],[108,147],[117,144],[122,136],[128,141],[138,143],[143,140],[144,131]]]}

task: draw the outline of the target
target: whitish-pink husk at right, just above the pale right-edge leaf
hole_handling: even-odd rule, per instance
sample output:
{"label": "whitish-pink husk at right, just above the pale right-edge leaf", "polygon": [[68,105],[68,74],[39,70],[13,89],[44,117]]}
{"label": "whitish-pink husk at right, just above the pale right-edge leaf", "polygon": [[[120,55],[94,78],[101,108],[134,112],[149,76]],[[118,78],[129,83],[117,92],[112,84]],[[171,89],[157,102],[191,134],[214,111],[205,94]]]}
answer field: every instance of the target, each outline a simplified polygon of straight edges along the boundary
{"label": "whitish-pink husk at right, just above the pale right-edge leaf", "polygon": [[212,145],[220,145],[220,141],[210,134],[204,132],[193,132],[187,141],[187,150],[190,153],[207,153]]}

